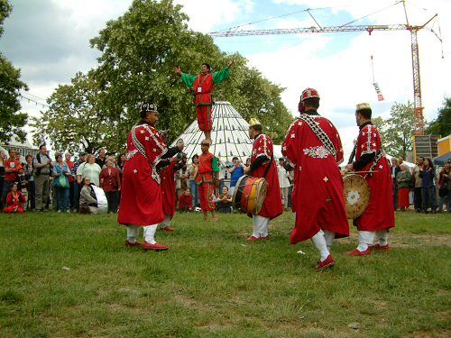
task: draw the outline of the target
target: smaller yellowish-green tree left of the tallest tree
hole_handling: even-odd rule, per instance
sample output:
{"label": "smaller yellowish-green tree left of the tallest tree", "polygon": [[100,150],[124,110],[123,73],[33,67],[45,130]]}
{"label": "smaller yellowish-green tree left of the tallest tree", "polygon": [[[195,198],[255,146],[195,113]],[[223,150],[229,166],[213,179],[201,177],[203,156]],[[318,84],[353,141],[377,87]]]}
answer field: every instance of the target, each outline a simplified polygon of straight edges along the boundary
{"label": "smaller yellowish-green tree left of the tallest tree", "polygon": [[125,145],[116,141],[118,124],[101,105],[101,96],[97,82],[82,73],[71,79],[71,85],[58,86],[47,99],[49,109],[40,118],[32,117],[34,144],[49,137],[52,147],[63,151],[94,153],[102,147],[122,151]]}

